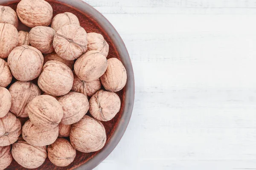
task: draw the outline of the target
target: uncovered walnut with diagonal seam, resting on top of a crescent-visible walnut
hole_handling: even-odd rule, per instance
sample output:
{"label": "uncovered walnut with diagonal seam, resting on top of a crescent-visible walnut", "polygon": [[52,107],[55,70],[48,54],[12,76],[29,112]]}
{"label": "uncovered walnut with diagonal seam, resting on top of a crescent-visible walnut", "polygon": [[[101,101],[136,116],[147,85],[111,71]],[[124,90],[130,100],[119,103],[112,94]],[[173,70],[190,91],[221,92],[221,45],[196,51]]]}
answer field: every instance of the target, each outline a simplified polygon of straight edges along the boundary
{"label": "uncovered walnut with diagonal seam, resting on top of a crescent-visible walnut", "polygon": [[63,110],[58,100],[49,95],[35,97],[27,108],[30,121],[40,128],[53,129],[63,117]]}

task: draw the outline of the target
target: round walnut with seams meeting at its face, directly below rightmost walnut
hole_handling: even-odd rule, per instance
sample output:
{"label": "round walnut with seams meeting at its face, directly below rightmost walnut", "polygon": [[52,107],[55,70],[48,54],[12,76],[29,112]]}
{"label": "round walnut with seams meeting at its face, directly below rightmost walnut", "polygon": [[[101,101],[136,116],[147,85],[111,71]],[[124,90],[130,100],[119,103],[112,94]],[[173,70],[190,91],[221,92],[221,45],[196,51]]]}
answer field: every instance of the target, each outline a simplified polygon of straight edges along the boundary
{"label": "round walnut with seams meeting at its face, directly below rightmost walnut", "polygon": [[90,98],[90,114],[100,121],[113,119],[120,107],[120,98],[113,92],[100,90]]}

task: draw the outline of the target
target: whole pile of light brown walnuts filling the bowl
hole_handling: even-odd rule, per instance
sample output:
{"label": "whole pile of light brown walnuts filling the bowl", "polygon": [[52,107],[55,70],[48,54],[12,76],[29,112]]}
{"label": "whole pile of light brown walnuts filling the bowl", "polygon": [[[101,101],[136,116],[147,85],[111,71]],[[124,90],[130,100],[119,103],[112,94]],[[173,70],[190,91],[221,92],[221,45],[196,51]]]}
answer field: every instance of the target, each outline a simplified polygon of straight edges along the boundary
{"label": "whole pile of light brown walnuts filling the bowl", "polygon": [[[107,137],[100,121],[119,112],[115,92],[127,80],[122,62],[107,59],[108,42],[87,33],[70,12],[52,19],[44,0],[21,0],[17,13],[0,8],[0,169],[12,158],[37,168],[47,156],[64,167],[76,150],[102,149]],[[31,30],[18,31],[18,20]]]}

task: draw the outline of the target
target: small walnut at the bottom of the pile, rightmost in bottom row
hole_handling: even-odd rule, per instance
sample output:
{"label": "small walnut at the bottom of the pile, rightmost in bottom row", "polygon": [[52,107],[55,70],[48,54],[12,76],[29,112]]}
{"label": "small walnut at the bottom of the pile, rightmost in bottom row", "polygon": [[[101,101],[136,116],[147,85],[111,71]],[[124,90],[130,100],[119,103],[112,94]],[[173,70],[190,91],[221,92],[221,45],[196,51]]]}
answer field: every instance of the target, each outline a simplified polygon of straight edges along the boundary
{"label": "small walnut at the bottom of the pile, rightmost in bottom row", "polygon": [[47,147],[49,160],[58,167],[66,167],[76,157],[76,149],[67,139],[58,138],[53,144]]}

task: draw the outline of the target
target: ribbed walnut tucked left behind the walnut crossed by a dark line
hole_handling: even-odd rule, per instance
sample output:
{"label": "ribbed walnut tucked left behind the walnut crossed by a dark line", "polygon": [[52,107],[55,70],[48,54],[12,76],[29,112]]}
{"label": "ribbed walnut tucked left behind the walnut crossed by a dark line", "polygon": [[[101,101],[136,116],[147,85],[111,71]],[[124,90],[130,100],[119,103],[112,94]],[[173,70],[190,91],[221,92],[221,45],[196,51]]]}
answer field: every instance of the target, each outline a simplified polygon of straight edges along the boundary
{"label": "ribbed walnut tucked left behind the walnut crossed by a dark line", "polygon": [[36,26],[29,31],[29,42],[43,54],[54,51],[52,46],[55,30],[47,26]]}

